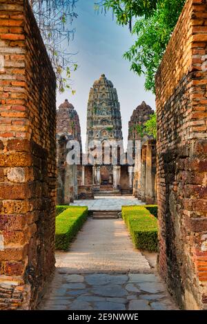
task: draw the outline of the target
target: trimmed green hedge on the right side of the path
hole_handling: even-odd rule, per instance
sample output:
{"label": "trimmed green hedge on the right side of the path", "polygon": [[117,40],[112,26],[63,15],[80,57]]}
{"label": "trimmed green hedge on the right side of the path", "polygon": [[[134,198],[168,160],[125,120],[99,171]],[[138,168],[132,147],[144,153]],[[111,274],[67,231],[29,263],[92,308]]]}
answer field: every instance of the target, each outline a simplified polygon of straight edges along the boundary
{"label": "trimmed green hedge on the right side of the path", "polygon": [[122,218],[137,249],[157,252],[157,218],[152,216],[149,207],[155,211],[155,205],[123,206]]}

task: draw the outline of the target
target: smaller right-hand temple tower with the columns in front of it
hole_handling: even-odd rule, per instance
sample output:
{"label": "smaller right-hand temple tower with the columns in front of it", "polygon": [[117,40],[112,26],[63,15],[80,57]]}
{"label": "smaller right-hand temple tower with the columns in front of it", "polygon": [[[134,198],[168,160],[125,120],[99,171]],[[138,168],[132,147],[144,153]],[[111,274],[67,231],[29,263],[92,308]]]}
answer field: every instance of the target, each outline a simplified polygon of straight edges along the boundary
{"label": "smaller right-hand temple tower with the columns in front of it", "polygon": [[[128,141],[132,141],[135,159],[133,195],[148,204],[156,202],[156,141],[144,130],[144,124],[155,112],[146,102],[133,111],[128,123]],[[139,141],[139,142],[137,142]]]}

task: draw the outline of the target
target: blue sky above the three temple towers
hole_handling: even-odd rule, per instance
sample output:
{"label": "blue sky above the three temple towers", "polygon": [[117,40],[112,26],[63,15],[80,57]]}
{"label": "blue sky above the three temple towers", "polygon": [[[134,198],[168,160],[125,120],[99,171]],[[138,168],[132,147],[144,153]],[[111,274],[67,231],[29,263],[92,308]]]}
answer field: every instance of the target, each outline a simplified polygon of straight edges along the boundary
{"label": "blue sky above the three temple towers", "polygon": [[81,123],[83,148],[86,142],[86,117],[88,95],[92,84],[105,74],[117,88],[122,119],[124,143],[128,137],[128,122],[133,110],[145,101],[155,109],[155,96],[144,90],[144,76],[130,71],[130,62],[123,54],[133,44],[128,27],[117,26],[112,13],[106,15],[94,10],[94,0],[79,0],[76,5],[78,18],[72,23],[75,37],[69,44],[70,53],[77,53],[73,59],[79,68],[72,73],[72,88],[57,95],[57,107],[65,100],[75,106]]}

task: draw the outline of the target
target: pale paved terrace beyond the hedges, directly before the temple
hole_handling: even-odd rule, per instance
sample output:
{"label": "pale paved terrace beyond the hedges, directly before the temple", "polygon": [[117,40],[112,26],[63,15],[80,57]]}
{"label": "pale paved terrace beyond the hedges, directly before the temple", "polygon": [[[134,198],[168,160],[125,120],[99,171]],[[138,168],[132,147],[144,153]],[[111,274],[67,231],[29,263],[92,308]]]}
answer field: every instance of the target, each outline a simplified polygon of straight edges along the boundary
{"label": "pale paved terrace beyond the hedges, directly before the temple", "polygon": [[89,210],[118,210],[121,211],[121,206],[144,204],[141,200],[137,200],[132,196],[111,196],[97,197],[94,200],[75,200],[71,206],[88,206]]}

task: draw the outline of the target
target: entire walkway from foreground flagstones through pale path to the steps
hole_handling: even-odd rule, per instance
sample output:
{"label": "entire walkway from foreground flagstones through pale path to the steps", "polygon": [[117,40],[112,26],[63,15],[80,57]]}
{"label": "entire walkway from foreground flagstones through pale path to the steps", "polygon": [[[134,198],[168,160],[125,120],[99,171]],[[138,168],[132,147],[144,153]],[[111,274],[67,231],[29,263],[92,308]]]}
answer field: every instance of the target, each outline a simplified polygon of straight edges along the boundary
{"label": "entire walkway from foreground flagstones through pale path to the steps", "polygon": [[176,309],[146,258],[132,246],[123,220],[87,220],[39,309]]}

